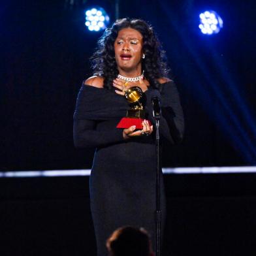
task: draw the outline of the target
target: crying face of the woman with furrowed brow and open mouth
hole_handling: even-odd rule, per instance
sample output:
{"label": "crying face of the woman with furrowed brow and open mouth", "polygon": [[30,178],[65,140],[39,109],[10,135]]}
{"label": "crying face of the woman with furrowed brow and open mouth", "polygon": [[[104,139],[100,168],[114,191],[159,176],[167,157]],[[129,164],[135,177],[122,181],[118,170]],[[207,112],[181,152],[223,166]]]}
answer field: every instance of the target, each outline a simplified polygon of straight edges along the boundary
{"label": "crying face of the woman with furrowed brow and open mouth", "polygon": [[142,35],[136,29],[127,27],[118,32],[114,50],[119,71],[137,71],[141,74],[142,44]]}

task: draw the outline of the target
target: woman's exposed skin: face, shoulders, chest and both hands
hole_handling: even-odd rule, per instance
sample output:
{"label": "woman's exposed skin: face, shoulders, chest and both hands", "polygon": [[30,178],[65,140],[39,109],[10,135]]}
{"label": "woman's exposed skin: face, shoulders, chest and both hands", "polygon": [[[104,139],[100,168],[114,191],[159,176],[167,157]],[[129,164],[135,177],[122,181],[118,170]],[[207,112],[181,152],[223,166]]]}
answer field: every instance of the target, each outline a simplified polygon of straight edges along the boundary
{"label": "woman's exposed skin: face, shoulders, chest and both hands", "polygon": [[[142,74],[142,56],[143,56],[143,37],[140,32],[127,27],[121,29],[118,33],[118,37],[114,42],[114,50],[116,57],[116,64],[118,71],[122,76],[136,77]],[[159,82],[167,82],[167,78],[160,78]],[[100,76],[92,76],[84,82],[89,86],[97,88],[103,88],[104,78]],[[148,80],[141,76],[139,82],[127,82],[116,78],[113,81],[113,86],[116,88],[118,95],[124,96],[125,90],[133,86],[138,86],[143,92],[148,90],[150,86]],[[142,121],[142,129],[135,131],[136,127],[131,126],[127,129],[123,129],[123,138],[129,139],[134,136],[143,136],[145,133],[151,135],[153,132],[153,125],[150,125],[147,120]]]}

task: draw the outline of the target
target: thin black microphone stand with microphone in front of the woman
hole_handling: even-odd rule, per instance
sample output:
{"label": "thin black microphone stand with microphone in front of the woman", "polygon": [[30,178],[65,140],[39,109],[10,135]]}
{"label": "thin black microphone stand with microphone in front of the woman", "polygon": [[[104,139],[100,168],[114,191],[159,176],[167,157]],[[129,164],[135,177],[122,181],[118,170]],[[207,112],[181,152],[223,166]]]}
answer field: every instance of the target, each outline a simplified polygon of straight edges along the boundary
{"label": "thin black microphone stand with microphone in front of the woman", "polygon": [[159,153],[159,120],[161,108],[158,98],[152,99],[153,117],[155,118],[155,148],[156,148],[156,176],[155,176],[155,223],[156,223],[156,256],[161,256],[161,184],[160,184],[160,153]]}

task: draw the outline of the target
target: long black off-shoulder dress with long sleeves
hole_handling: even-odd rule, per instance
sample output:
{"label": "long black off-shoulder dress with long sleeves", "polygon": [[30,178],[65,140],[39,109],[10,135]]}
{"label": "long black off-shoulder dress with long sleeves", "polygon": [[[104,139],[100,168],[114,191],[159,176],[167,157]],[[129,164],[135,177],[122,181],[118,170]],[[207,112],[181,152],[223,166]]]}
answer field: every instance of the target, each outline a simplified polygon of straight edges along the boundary
{"label": "long black off-shoulder dress with long sleeves", "polygon": [[[151,99],[161,97],[162,140],[178,142],[184,120],[175,84],[162,84],[161,93],[149,87],[146,95],[148,120],[153,123]],[[114,89],[83,85],[74,112],[74,144],[96,148],[90,176],[91,214],[97,240],[97,255],[105,256],[106,239],[125,225],[144,227],[155,245],[155,144],[154,136],[124,140],[116,125],[129,108]],[[165,193],[161,177],[162,227]]]}

